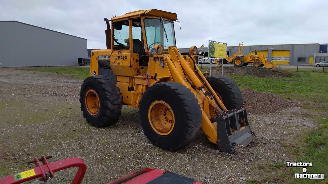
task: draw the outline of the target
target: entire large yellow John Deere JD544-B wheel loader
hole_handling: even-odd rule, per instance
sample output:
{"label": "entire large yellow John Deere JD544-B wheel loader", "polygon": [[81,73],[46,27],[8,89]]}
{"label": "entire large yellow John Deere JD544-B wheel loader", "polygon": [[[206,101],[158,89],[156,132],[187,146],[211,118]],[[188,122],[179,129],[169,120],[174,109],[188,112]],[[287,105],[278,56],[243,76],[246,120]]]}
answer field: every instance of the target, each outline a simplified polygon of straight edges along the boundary
{"label": "entire large yellow John Deere JD544-B wheel loader", "polygon": [[197,47],[189,55],[177,49],[175,13],[139,10],[104,20],[107,49],[92,50],[90,77],[80,91],[87,122],[111,125],[127,105],[139,108],[145,135],[167,150],[184,148],[200,128],[226,153],[253,140],[236,84],[205,78],[196,65]]}

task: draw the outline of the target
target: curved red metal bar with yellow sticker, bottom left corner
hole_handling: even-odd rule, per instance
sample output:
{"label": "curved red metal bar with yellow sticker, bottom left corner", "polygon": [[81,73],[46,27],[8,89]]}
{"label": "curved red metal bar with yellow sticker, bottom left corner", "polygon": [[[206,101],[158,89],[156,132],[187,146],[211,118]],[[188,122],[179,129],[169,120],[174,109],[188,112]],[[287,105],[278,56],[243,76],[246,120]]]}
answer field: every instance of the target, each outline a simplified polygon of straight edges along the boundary
{"label": "curved red metal bar with yellow sticker, bottom left corner", "polygon": [[[40,164],[40,161],[42,160],[43,165]],[[43,180],[46,180],[46,172],[50,174],[50,177],[53,178],[53,173],[68,169],[71,167],[79,167],[76,175],[74,176],[72,184],[80,184],[85,172],[87,171],[87,166],[85,165],[84,161],[81,158],[66,158],[63,160],[59,160],[56,162],[48,163],[47,158],[45,156],[42,156],[41,159],[38,159],[37,157],[34,158],[32,161],[35,163],[35,167],[33,168],[35,175],[23,178],[20,180],[15,181],[14,175],[9,175],[3,179],[0,179],[0,183],[2,184],[18,184],[18,183],[24,183],[26,181],[30,181],[32,179],[41,178]],[[31,169],[29,169],[31,170]],[[28,171],[28,170],[26,170]]]}

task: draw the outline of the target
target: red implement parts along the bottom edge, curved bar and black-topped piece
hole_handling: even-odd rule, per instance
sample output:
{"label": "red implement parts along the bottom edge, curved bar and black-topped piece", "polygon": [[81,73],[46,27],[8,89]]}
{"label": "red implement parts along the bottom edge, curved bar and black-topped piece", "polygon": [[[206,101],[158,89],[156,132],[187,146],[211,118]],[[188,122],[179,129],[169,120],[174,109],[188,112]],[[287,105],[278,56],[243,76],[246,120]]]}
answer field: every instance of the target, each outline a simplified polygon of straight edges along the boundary
{"label": "red implement parts along the bottom edge, curved bar and black-topped piece", "polygon": [[[42,181],[48,181],[53,178],[53,173],[68,169],[71,167],[79,167],[74,176],[72,184],[80,184],[87,171],[87,166],[81,158],[67,158],[56,162],[48,163],[47,159],[51,156],[34,157],[28,163],[34,163],[35,167],[14,175],[0,179],[1,184],[17,184],[24,183],[38,178]],[[43,165],[41,165],[42,161]],[[135,170],[127,175],[110,181],[107,184],[201,184],[200,182],[168,171],[142,168]]]}

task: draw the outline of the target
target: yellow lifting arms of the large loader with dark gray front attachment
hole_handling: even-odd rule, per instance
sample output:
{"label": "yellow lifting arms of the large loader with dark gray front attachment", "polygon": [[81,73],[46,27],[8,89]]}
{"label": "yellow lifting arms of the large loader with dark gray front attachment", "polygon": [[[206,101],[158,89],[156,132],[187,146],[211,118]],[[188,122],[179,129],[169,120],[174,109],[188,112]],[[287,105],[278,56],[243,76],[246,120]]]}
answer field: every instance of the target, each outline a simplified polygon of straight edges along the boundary
{"label": "yellow lifting arms of the large loader with dark gray front attachment", "polygon": [[[235,152],[234,144],[249,144],[254,133],[249,128],[245,107],[227,109],[195,64],[192,54],[181,55],[174,46],[169,46],[168,51],[169,55],[163,58],[171,80],[185,85],[195,94],[202,111],[202,129],[207,138],[227,153]],[[234,138],[231,137],[233,135]]]}

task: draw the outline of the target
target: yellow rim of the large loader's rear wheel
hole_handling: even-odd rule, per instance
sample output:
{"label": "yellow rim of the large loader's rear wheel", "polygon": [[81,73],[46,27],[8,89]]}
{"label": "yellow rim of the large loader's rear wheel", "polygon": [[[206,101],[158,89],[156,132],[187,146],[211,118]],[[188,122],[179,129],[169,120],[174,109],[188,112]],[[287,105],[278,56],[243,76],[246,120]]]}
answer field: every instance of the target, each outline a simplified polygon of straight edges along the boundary
{"label": "yellow rim of the large loader's rear wheel", "polygon": [[89,89],[85,94],[85,106],[87,111],[92,115],[95,116],[99,112],[100,107],[100,100],[99,96],[96,91],[93,89]]}

